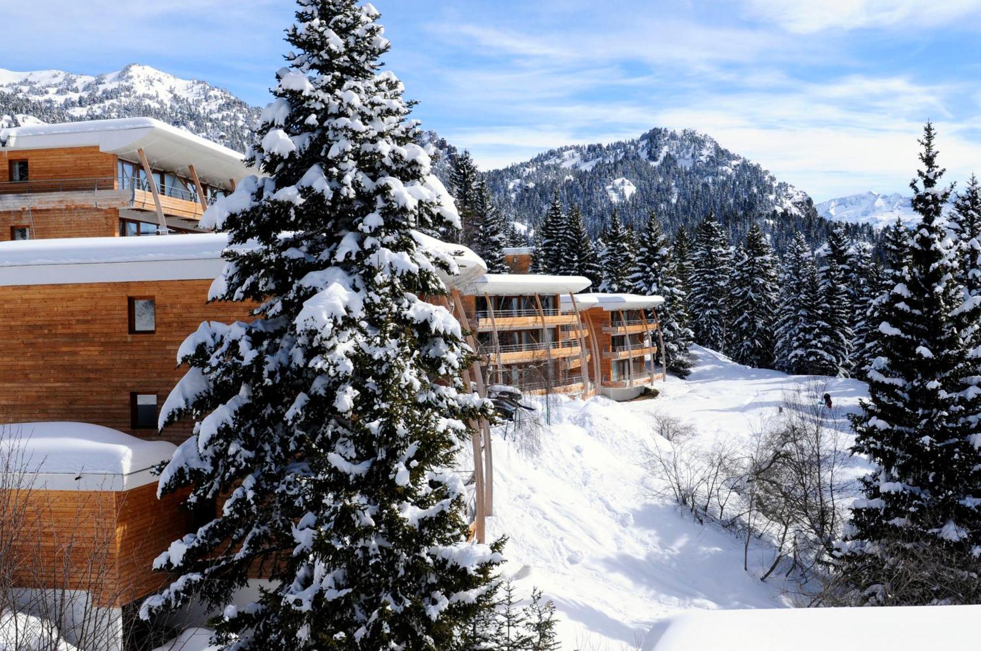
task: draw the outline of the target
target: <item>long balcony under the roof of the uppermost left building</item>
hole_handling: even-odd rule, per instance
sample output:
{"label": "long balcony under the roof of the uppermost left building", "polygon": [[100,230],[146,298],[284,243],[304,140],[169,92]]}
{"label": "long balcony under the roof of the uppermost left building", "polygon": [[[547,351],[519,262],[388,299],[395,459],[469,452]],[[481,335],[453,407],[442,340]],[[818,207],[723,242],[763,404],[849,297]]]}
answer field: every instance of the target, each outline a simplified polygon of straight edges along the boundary
{"label": "long balcony under the roof of the uppermost left building", "polygon": [[[70,208],[132,208],[156,212],[151,181],[145,178],[42,178],[0,182],[0,211]],[[197,193],[155,182],[165,215],[200,218],[204,210]],[[215,197],[206,200],[214,203]]]}

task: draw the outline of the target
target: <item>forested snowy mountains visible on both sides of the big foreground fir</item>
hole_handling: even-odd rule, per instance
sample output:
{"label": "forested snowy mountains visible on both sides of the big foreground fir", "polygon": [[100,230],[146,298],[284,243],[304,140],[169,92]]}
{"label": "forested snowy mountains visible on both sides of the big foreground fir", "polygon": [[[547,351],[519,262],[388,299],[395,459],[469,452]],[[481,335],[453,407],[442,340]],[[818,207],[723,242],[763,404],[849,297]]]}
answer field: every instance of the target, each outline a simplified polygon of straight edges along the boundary
{"label": "forested snowy mountains visible on both sides of the big foreground fir", "polygon": [[[143,116],[244,152],[258,115],[258,107],[225,89],[138,64],[94,76],[0,69],[0,126]],[[459,150],[436,131],[421,139],[437,153],[435,172],[452,190]],[[820,242],[831,227],[825,219],[831,213],[819,215],[803,191],[690,129],[654,128],[633,140],[560,147],[483,175],[510,219],[532,227],[556,190],[566,205],[582,208],[594,235],[614,208],[636,227],[653,210],[671,230],[714,213],[736,240],[749,225],[762,224],[781,249],[797,230]],[[871,233],[872,222],[851,224]]]}

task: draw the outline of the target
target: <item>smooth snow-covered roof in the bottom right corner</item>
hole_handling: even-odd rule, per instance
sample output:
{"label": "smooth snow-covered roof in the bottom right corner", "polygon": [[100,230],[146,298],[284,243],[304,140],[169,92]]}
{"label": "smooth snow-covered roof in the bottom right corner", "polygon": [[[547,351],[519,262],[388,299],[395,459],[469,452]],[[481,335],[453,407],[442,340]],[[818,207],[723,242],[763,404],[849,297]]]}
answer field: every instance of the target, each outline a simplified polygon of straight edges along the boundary
{"label": "smooth snow-covered roof in the bottom right corner", "polygon": [[656,624],[644,651],[978,647],[981,606],[693,610]]}

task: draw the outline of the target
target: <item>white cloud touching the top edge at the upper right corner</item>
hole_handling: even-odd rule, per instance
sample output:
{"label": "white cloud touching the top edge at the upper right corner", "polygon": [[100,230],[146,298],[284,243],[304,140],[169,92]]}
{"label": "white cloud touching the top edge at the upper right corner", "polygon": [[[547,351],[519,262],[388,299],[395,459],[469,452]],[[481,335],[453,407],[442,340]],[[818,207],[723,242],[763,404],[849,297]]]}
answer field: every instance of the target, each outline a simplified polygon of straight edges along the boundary
{"label": "white cloud touching the top edge at the upper right corner", "polygon": [[798,33],[944,25],[981,13],[981,0],[746,0],[751,15]]}

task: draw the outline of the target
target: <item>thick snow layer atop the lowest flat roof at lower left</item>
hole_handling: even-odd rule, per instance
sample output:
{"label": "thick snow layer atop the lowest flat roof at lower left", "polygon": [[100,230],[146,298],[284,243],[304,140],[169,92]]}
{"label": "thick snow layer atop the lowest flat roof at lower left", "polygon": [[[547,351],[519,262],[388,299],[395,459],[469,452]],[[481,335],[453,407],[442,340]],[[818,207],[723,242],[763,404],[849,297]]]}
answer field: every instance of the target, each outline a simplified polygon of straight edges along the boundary
{"label": "thick snow layer atop the lowest flat roof at lower left", "polygon": [[0,455],[43,475],[129,475],[169,460],[176,449],[86,423],[23,423],[7,426],[0,437]]}

